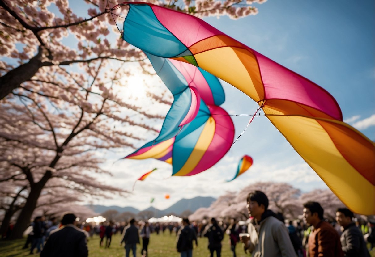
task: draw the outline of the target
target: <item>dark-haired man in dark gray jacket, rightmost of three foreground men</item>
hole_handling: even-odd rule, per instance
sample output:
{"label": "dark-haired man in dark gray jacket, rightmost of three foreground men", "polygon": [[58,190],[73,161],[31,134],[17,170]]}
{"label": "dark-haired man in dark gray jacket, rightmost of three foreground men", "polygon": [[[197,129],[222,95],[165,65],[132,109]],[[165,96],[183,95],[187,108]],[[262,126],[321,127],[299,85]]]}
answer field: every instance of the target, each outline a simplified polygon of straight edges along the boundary
{"label": "dark-haired man in dark gray jacket, rightmost of three foreground men", "polygon": [[345,257],[370,257],[362,232],[352,221],[354,214],[348,208],[336,211],[336,221],[344,229],[340,236],[342,251]]}

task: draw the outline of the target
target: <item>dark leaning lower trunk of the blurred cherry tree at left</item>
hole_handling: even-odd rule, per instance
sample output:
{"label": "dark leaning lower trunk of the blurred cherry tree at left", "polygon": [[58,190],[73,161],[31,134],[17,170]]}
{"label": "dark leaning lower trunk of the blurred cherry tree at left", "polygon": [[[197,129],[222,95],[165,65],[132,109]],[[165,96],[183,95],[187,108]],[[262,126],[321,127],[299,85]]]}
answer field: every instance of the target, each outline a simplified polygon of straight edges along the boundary
{"label": "dark leaning lower trunk of the blurred cherry tree at left", "polygon": [[36,202],[40,196],[40,193],[42,192],[44,185],[45,183],[38,182],[30,188],[30,194],[27,197],[25,206],[22,208],[20,216],[18,216],[17,218],[17,223],[13,227],[13,231],[9,239],[20,239],[23,237],[23,232],[30,225],[31,215],[36,208]]}

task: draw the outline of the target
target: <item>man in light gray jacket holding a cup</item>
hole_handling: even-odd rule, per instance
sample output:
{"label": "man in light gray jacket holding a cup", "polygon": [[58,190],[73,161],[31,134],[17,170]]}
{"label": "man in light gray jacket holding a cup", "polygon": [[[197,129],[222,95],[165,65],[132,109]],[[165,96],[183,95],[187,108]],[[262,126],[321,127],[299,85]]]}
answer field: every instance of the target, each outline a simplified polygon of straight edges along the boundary
{"label": "man in light gray jacket holding a cup", "polygon": [[252,257],[296,257],[288,229],[268,210],[268,198],[262,191],[253,191],[248,196],[248,211],[253,217],[248,226],[249,236],[240,235],[245,251]]}

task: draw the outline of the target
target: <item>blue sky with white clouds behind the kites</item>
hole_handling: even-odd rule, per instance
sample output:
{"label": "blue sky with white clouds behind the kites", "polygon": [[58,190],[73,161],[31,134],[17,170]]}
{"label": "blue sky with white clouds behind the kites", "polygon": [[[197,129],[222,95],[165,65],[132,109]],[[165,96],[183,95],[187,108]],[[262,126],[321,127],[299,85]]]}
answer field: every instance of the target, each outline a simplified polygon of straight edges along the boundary
{"label": "blue sky with white clouds behind the kites", "polygon": [[[259,13],[255,16],[204,20],[325,88],[338,101],[344,120],[375,140],[374,1],[269,0],[257,7]],[[223,87],[226,102],[222,106],[229,114],[254,114],[258,105],[253,100],[225,82]],[[233,117],[236,138],[249,118]],[[254,165],[226,183],[245,154],[252,156]],[[165,209],[181,198],[219,197],[257,181],[287,182],[302,191],[327,188],[266,117],[255,117],[219,163],[195,176],[170,177],[171,166],[157,160],[122,160],[113,165],[112,161],[104,165],[114,173],[108,184],[130,191],[133,181],[143,173],[154,167],[159,170],[138,182],[128,197],[98,200],[95,204],[145,209],[154,197],[152,205]],[[164,199],[165,194],[171,198]]]}

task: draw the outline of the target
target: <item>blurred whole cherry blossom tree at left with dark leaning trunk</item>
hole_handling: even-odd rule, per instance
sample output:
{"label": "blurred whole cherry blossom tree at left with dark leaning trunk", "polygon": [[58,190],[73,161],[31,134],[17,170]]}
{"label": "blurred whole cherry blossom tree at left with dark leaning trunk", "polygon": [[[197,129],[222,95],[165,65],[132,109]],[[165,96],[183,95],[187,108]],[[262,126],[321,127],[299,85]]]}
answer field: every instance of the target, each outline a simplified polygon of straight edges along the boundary
{"label": "blurred whole cherry blossom tree at left with dark leaning trunk", "polygon": [[4,182],[26,181],[29,187],[14,227],[15,237],[22,235],[38,197],[52,178],[69,181],[63,185],[86,194],[121,192],[91,175],[111,175],[99,167],[104,159],[97,157],[98,152],[134,148],[131,141],[141,138],[131,129],[127,131],[130,127],[155,133],[156,129],[128,115],[140,114],[149,123],[163,116],[123,102],[115,94],[125,76],[121,65],[102,71],[105,61],[77,64],[79,72],[54,67],[43,81],[32,80],[2,100],[1,178]]}

